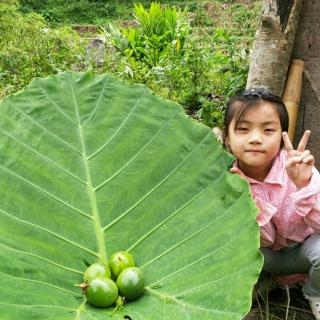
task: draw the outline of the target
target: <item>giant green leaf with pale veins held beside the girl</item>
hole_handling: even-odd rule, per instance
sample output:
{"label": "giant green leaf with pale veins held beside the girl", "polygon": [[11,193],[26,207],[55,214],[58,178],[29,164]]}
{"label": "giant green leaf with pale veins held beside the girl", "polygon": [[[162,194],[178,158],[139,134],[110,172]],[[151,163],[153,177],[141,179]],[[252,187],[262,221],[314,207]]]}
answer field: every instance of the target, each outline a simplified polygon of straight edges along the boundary
{"label": "giant green leaf with pale veins held beside the girl", "polygon": [[1,320],[111,318],[74,284],[117,250],[147,288],[114,319],[241,319],[262,260],[231,162],[181,107],[106,75],[36,79],[3,100]]}

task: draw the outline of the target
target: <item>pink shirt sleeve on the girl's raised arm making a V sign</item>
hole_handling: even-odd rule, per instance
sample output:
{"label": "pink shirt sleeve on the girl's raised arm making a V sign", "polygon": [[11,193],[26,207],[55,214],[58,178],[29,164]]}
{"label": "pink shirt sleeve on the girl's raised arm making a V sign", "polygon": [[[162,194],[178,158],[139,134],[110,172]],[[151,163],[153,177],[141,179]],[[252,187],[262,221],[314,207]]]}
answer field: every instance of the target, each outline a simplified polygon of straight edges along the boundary
{"label": "pink shirt sleeve on the girl's raised arm making a V sign", "polygon": [[320,174],[312,170],[310,183],[291,195],[296,212],[315,231],[320,231]]}

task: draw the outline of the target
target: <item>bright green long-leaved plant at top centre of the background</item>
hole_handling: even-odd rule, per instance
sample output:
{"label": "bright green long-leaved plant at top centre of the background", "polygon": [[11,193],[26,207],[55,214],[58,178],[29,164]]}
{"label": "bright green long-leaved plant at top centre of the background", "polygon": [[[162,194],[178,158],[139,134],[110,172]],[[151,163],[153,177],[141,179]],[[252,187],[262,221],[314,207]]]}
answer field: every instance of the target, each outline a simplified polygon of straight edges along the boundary
{"label": "bright green long-leaved plant at top centre of the background", "polygon": [[140,3],[134,5],[133,15],[137,27],[119,30],[110,24],[108,30],[104,30],[104,36],[121,54],[152,68],[170,51],[183,53],[189,32],[186,10],[152,2],[148,11]]}

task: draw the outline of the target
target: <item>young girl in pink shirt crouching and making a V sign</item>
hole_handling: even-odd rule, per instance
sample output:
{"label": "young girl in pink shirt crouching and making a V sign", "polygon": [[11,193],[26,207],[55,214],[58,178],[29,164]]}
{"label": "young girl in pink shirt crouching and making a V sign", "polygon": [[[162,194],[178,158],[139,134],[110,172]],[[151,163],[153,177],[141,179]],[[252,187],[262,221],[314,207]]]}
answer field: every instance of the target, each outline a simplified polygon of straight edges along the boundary
{"label": "young girl in pink shirt crouching and making a V sign", "polygon": [[320,319],[320,175],[305,150],[310,131],[297,149],[287,131],[285,105],[265,89],[246,90],[227,104],[224,145],[236,157],[230,171],[247,179],[260,209],[263,270],[308,274],[303,292]]}

